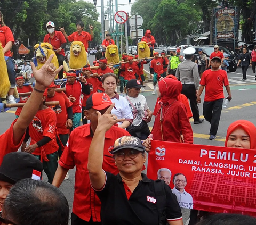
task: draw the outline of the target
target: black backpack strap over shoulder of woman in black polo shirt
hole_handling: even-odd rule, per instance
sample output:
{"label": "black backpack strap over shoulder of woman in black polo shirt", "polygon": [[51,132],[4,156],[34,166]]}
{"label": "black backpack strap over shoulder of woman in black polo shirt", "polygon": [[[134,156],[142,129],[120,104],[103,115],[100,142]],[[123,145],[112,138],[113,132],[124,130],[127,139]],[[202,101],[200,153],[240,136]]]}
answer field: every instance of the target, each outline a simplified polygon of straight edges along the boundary
{"label": "black backpack strap over shoulder of woman in black polo shirt", "polygon": [[159,225],[166,225],[166,209],[167,209],[167,201],[166,201],[166,193],[164,189],[165,182],[164,180],[154,180],[154,192],[156,197],[156,207],[158,211],[158,219]]}

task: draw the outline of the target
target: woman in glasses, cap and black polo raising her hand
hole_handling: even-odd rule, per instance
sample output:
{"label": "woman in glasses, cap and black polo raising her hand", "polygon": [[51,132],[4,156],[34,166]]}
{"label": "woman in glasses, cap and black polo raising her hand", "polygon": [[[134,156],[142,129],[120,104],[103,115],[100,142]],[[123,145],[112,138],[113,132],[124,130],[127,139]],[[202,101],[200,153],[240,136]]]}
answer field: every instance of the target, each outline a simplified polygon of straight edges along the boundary
{"label": "woman in glasses, cap and black polo raising her hand", "polygon": [[141,173],[146,154],[139,138],[123,136],[115,141],[111,153],[119,171],[117,176],[102,170],[105,133],[115,123],[124,121],[111,116],[113,107],[114,104],[103,115],[97,112],[98,126],[88,155],[91,186],[102,203],[102,224],[182,225],[180,207],[170,187],[158,181],[165,195],[159,198],[156,181]]}

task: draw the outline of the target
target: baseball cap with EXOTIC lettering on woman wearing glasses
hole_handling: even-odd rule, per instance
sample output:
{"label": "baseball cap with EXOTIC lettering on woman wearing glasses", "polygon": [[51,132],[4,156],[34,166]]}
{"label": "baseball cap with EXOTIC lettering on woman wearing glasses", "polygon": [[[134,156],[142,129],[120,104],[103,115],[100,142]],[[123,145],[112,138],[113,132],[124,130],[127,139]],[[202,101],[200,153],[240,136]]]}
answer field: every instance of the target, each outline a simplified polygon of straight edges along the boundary
{"label": "baseball cap with EXOTIC lettering on woman wearing glasses", "polygon": [[110,153],[114,154],[124,148],[132,148],[140,152],[145,151],[145,148],[139,138],[133,136],[123,136],[115,140],[114,148]]}

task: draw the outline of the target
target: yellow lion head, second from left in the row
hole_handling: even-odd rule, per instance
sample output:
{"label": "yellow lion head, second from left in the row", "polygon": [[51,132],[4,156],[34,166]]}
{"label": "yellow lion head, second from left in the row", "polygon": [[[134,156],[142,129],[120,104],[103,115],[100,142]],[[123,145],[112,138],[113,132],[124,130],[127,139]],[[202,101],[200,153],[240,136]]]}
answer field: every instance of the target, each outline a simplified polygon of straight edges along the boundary
{"label": "yellow lion head, second from left in the row", "polygon": [[78,69],[87,64],[87,53],[81,41],[73,41],[70,46],[69,68]]}

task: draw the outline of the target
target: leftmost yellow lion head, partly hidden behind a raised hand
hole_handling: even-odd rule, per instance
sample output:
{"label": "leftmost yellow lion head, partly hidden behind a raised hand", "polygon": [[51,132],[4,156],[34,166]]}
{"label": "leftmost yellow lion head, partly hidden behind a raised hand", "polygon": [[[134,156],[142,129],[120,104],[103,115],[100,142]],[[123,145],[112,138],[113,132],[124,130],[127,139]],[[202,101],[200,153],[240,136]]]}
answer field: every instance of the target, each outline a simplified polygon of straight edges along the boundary
{"label": "leftmost yellow lion head, partly hidden behind a raised hand", "polygon": [[[44,54],[41,52],[40,48],[42,49]],[[54,54],[52,63],[54,64],[54,66],[56,66],[56,68],[59,68],[58,59],[57,59],[56,54],[53,51],[51,44],[49,44],[47,42],[42,42],[40,44],[36,44],[34,46],[34,51],[35,51],[35,57],[37,60],[37,69],[40,69],[44,65],[44,63],[47,61],[47,59],[49,59],[51,54]]]}

